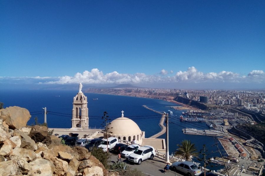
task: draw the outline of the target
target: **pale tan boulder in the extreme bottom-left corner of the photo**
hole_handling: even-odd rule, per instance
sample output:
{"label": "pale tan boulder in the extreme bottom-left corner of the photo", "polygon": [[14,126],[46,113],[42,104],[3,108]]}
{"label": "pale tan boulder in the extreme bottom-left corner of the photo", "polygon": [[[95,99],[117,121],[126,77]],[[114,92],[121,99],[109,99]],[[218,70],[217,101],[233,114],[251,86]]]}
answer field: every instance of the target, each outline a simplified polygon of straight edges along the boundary
{"label": "pale tan boulder in the extreme bottom-left corner of the photo", "polygon": [[[4,169],[3,169],[4,168]],[[15,161],[2,161],[0,162],[0,175],[9,176],[15,175],[18,165]]]}

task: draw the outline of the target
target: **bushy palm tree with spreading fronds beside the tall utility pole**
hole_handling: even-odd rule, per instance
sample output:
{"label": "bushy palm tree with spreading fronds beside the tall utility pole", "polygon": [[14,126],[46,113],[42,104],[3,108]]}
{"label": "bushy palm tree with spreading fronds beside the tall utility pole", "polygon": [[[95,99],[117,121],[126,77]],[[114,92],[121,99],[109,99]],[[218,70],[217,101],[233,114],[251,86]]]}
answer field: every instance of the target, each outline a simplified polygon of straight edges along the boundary
{"label": "bushy palm tree with spreading fronds beside the tall utility pole", "polygon": [[191,160],[191,156],[197,156],[198,153],[196,152],[196,147],[194,143],[191,143],[191,141],[183,140],[181,141],[181,145],[177,144],[178,149],[175,151],[175,155],[181,155],[183,156],[186,161]]}

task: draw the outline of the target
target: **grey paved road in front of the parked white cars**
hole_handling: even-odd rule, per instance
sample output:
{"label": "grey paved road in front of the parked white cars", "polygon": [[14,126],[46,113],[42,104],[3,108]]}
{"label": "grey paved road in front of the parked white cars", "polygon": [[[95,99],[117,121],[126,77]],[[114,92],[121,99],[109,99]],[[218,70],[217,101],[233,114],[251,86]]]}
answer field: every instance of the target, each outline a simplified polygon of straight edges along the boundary
{"label": "grey paved road in front of the parked white cars", "polygon": [[[117,161],[117,154],[113,154],[112,151],[110,151],[110,164]],[[137,169],[143,171],[147,176],[161,176],[161,175],[169,175],[169,176],[175,176],[175,172],[172,170],[169,170],[169,173],[164,174],[164,167],[165,163],[161,161],[159,158],[154,157],[153,160],[144,160],[142,164],[130,164],[126,158],[122,158],[123,162],[126,162],[130,169]],[[183,176],[179,173],[176,173],[178,176]]]}

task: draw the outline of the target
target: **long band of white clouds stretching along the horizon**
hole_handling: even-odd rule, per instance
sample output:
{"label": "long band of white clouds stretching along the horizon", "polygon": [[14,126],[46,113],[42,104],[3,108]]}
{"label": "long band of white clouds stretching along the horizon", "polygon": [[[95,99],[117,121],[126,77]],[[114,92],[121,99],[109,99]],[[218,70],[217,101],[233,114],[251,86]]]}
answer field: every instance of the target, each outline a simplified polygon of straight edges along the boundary
{"label": "long band of white clouds stretching along the horizon", "polygon": [[[230,71],[221,71],[203,73],[195,67],[188,67],[186,71],[178,71],[173,74],[173,71],[162,69],[157,75],[146,75],[145,73],[118,73],[117,71],[103,73],[97,68],[91,71],[77,72],[74,76],[62,77],[0,77],[0,83],[3,80],[10,82],[35,84],[162,84],[162,83],[238,83],[238,84],[259,84],[264,88],[265,72],[263,70],[252,70],[248,75],[240,75]],[[34,81],[35,80],[35,81]],[[243,87],[244,88],[244,87]],[[253,87],[255,88],[255,87]]]}

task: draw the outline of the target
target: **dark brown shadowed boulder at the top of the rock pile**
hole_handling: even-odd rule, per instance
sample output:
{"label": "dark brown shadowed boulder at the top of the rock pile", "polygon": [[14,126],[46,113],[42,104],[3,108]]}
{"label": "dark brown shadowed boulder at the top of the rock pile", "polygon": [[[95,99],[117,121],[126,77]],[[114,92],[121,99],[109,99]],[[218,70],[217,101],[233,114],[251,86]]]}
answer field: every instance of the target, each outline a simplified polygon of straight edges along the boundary
{"label": "dark brown shadowed boulder at the top of the rock pile", "polygon": [[47,126],[33,126],[32,130],[30,131],[29,137],[31,137],[35,142],[42,142],[46,139],[48,135],[48,128]]}

